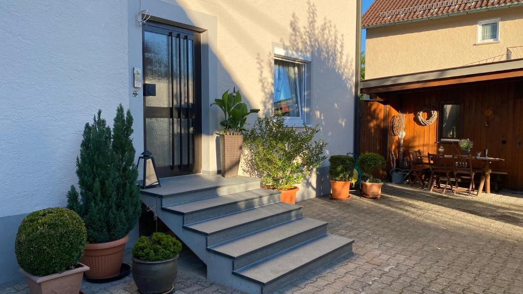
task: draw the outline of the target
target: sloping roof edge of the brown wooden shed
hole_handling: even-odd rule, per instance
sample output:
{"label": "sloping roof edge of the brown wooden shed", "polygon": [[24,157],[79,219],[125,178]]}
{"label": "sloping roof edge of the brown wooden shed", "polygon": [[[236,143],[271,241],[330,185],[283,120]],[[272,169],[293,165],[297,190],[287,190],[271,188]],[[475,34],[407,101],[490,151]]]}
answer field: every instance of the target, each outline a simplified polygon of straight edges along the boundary
{"label": "sloping roof edge of the brown wooden shed", "polygon": [[387,93],[515,77],[523,77],[523,59],[373,78],[361,82],[361,93]]}

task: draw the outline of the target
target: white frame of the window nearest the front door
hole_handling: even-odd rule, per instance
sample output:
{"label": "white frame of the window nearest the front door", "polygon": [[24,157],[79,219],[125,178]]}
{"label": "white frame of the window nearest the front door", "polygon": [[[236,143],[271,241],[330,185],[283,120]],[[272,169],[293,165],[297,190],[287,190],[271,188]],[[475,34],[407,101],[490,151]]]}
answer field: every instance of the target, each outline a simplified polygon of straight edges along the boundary
{"label": "white frame of the window nearest the front door", "polygon": [[[304,54],[300,54],[297,52],[288,51],[283,48],[275,47],[274,48],[274,59],[294,63],[295,70],[297,72],[298,72],[298,64],[302,64],[302,66],[301,66],[302,72],[299,73],[302,76],[301,85],[299,83],[299,79],[297,79],[298,81],[296,81],[297,88],[299,89],[299,92],[300,92],[300,99],[298,99],[298,108],[299,108],[298,111],[300,113],[300,116],[284,117],[284,119],[285,119],[285,125],[288,127],[303,127],[303,126],[305,126],[305,111],[308,107],[308,105],[306,105],[306,101],[307,101],[306,95],[309,95],[308,92],[310,92],[310,91],[308,91],[308,88],[307,88],[308,87],[308,84],[307,84],[308,72],[307,71],[310,70],[311,58],[308,55],[304,55]],[[273,63],[274,63],[274,61],[273,61]],[[273,83],[272,86],[274,87],[275,81],[273,81],[272,83]],[[271,112],[272,112],[272,114],[274,114],[274,97],[272,98]]]}

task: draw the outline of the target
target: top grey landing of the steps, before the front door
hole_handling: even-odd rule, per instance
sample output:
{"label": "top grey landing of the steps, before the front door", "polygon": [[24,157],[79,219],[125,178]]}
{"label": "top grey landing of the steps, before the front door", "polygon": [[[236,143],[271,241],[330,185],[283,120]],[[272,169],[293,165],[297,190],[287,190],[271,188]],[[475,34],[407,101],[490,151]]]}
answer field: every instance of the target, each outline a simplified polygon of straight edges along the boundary
{"label": "top grey landing of the steps, before the front door", "polygon": [[186,175],[160,180],[161,187],[142,189],[146,196],[162,199],[162,207],[260,188],[260,179],[245,176]]}

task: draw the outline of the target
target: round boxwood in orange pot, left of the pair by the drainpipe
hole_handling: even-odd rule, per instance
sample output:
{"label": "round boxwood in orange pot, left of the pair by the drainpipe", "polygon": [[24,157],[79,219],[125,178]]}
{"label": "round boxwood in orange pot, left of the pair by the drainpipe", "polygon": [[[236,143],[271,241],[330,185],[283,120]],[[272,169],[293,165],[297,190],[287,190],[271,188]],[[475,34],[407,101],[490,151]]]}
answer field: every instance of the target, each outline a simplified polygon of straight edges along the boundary
{"label": "round boxwood in orange pot, left of the pair by the drainpipe", "polygon": [[348,155],[332,155],[328,159],[329,176],[331,177],[331,199],[347,200],[350,198],[350,180],[354,174],[354,157]]}

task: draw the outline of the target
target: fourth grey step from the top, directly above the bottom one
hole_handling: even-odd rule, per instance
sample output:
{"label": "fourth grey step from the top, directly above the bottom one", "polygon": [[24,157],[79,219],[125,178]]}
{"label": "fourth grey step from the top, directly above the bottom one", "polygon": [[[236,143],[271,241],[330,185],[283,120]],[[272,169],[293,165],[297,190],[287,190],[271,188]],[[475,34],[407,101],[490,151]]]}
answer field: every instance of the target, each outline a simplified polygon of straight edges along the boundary
{"label": "fourth grey step from the top, directly above the bottom one", "polygon": [[208,250],[233,259],[236,270],[326,232],[326,222],[299,218],[214,245]]}

